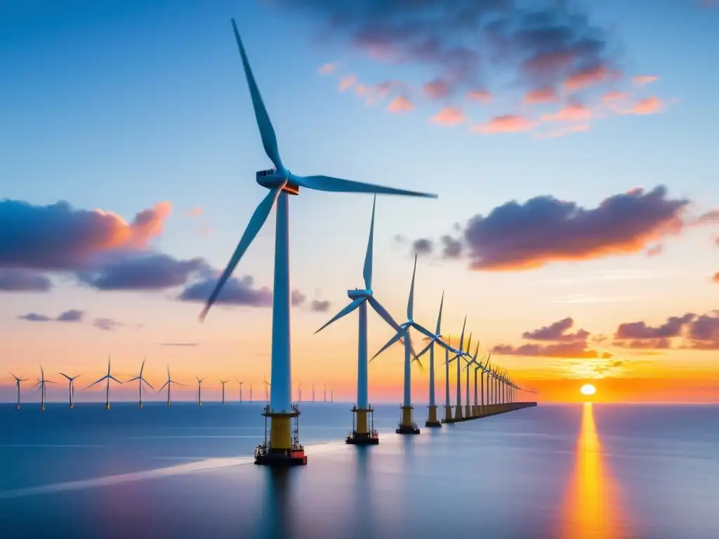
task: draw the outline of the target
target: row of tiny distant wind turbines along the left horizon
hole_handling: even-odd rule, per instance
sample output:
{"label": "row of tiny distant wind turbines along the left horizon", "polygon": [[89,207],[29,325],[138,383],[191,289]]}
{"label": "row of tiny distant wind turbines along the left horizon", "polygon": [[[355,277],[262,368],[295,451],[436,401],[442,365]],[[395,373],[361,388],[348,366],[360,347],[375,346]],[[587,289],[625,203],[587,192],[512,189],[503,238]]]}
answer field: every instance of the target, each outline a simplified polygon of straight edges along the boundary
{"label": "row of tiny distant wind turbines along the left horizon", "polygon": [[[145,388],[145,385],[149,387],[151,390],[155,391],[155,387],[150,384],[150,382],[147,382],[147,379],[142,376],[142,372],[145,370],[145,359],[142,360],[142,365],[139,368],[139,374],[127,380],[125,383],[129,382],[137,382],[138,390],[139,390],[139,407],[142,408],[142,391]],[[75,380],[81,377],[81,374],[75,374],[75,376],[69,376],[68,374],[65,374],[64,372],[60,372],[63,377],[68,379],[68,396],[69,396],[69,404],[70,408],[75,407]],[[15,374],[10,373],[10,376],[12,376],[15,380],[15,391],[17,396],[17,409],[20,409],[20,384],[22,382],[27,382],[29,378],[23,378],[22,376],[16,376]],[[202,405],[202,382],[204,382],[208,377],[200,378],[195,375],[195,379],[197,380],[197,404]],[[223,380],[221,378],[218,378],[221,388],[222,388],[222,404],[226,404],[225,400],[225,384],[231,382],[231,380]],[[88,385],[85,389],[88,390],[89,388],[93,387],[96,384],[99,384],[100,382],[106,382],[105,387],[105,408],[107,410],[110,409],[110,381],[117,382],[118,384],[123,384],[119,379],[114,377],[111,374],[111,360],[108,357],[107,359],[107,374],[105,374],[100,379],[96,380],[92,384]],[[239,384],[239,402],[244,402],[242,398],[242,382],[241,380],[235,379],[235,382]],[[40,365],[40,377],[37,378],[37,383],[32,386],[31,389],[37,388],[38,391],[40,391],[40,410],[45,410],[45,403],[47,402],[47,391],[46,391],[46,384],[55,384],[57,382],[53,382],[52,380],[49,380],[45,378],[45,369],[42,368],[42,365]],[[267,378],[264,379],[263,383],[265,384],[265,402],[269,402],[270,400],[270,394],[269,394],[269,388],[271,386],[270,382],[267,382]],[[160,391],[164,390],[165,387],[167,387],[168,390],[168,400],[167,404],[170,406],[172,404],[172,394],[171,394],[171,388],[175,385],[185,386],[186,384],[182,384],[180,382],[176,382],[172,379],[172,376],[170,375],[170,366],[168,365],[168,379],[165,381],[164,384],[162,384],[162,387],[160,387],[157,391],[159,393]],[[249,383],[249,402],[253,402],[252,400],[252,385],[253,382]],[[302,384],[298,384],[298,400],[302,400]],[[312,402],[315,401],[315,387],[314,382],[312,383]],[[330,390],[330,400],[327,400],[327,384],[324,384],[324,401],[323,402],[334,402],[334,390]]]}

